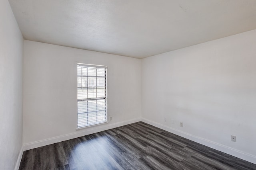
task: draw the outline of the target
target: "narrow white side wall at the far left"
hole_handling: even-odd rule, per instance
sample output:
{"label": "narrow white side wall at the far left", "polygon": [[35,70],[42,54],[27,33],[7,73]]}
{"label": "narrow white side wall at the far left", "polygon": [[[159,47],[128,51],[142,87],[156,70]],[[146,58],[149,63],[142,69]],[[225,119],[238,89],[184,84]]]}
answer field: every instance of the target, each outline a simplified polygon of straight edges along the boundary
{"label": "narrow white side wall at the far left", "polygon": [[12,170],[22,148],[23,37],[8,0],[0,25],[0,167]]}

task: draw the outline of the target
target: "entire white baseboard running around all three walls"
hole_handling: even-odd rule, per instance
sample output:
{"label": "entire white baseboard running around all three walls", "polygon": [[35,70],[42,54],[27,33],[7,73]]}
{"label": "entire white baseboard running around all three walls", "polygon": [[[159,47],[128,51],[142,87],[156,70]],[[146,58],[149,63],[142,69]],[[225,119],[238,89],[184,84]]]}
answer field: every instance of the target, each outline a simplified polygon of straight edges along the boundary
{"label": "entire white baseboard running around all three walls", "polygon": [[95,126],[95,128],[93,128],[93,129],[81,130],[81,131],[77,131],[76,133],[70,133],[68,135],[62,135],[62,136],[58,136],[58,137],[54,137],[54,138],[50,138],[50,139],[45,139],[45,140],[42,140],[42,141],[36,141],[36,142],[33,142],[33,143],[25,144],[25,145],[23,145],[22,149],[20,150],[20,154],[19,154],[18,160],[16,162],[15,170],[18,170],[18,168],[20,166],[20,161],[21,161],[22,153],[23,153],[24,150],[43,147],[43,146],[50,145],[50,144],[53,144],[53,143],[58,143],[58,142],[66,141],[66,140],[69,140],[69,139],[74,139],[74,138],[77,138],[77,137],[81,137],[81,136],[84,136],[84,135],[90,135],[92,133],[97,133],[97,132],[100,132],[100,131],[105,131],[105,130],[108,130],[108,129],[113,129],[113,128],[116,128],[116,127],[128,125],[128,124],[135,123],[135,122],[138,122],[138,121],[143,121],[143,122],[148,123],[152,126],[158,127],[160,129],[163,129],[163,130],[168,131],[170,133],[174,133],[176,135],[179,135],[181,137],[184,137],[184,138],[189,139],[191,141],[194,141],[196,143],[200,143],[200,144],[205,145],[207,147],[219,150],[221,152],[230,154],[232,156],[236,156],[238,158],[241,158],[243,160],[246,160],[248,162],[252,162],[252,163],[256,164],[256,156],[254,156],[254,155],[247,154],[247,153],[244,153],[240,150],[236,150],[236,149],[233,149],[233,148],[230,148],[230,147],[227,147],[227,146],[224,146],[224,145],[212,142],[212,141],[208,141],[208,140],[203,139],[201,137],[197,137],[195,135],[191,135],[189,133],[179,131],[177,129],[168,127],[166,125],[162,125],[160,123],[157,123],[157,122],[154,122],[154,121],[151,121],[151,120],[148,120],[148,119],[136,118],[136,119],[131,119],[131,120],[128,120],[128,121],[122,121],[122,122],[113,123],[113,124],[106,124],[103,127]]}

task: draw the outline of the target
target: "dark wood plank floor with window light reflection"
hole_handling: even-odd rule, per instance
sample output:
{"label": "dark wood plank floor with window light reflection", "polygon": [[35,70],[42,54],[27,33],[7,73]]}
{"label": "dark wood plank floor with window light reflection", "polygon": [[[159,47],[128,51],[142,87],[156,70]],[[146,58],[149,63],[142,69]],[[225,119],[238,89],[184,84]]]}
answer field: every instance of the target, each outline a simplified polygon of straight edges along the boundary
{"label": "dark wood plank floor with window light reflection", "polygon": [[20,170],[256,170],[256,164],[143,122],[26,150]]}

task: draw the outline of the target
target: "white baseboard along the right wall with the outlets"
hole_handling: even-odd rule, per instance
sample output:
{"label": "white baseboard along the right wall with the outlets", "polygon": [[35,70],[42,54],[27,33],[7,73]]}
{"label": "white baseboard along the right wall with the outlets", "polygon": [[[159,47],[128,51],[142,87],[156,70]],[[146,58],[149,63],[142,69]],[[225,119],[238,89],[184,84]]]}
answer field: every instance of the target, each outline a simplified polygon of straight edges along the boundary
{"label": "white baseboard along the right wall with the outlets", "polygon": [[221,152],[230,154],[232,156],[235,156],[235,157],[238,157],[240,159],[243,159],[243,160],[246,160],[248,162],[252,162],[252,163],[256,164],[256,156],[254,156],[252,154],[244,153],[244,152],[242,152],[240,150],[236,150],[236,149],[233,149],[233,148],[230,148],[230,147],[227,147],[227,146],[224,146],[224,145],[212,142],[212,141],[208,141],[206,139],[197,137],[195,135],[191,135],[189,133],[185,133],[183,131],[179,131],[177,129],[168,127],[166,125],[162,125],[160,123],[157,123],[157,122],[154,122],[154,121],[151,121],[151,120],[148,120],[148,119],[142,118],[142,121],[145,122],[145,123],[148,123],[148,124],[150,124],[152,126],[155,126],[155,127],[160,128],[160,129],[163,129],[165,131],[168,131],[170,133],[174,133],[175,135],[179,135],[181,137],[184,137],[186,139],[194,141],[196,143],[200,143],[200,144],[205,145],[207,147],[219,150]]}

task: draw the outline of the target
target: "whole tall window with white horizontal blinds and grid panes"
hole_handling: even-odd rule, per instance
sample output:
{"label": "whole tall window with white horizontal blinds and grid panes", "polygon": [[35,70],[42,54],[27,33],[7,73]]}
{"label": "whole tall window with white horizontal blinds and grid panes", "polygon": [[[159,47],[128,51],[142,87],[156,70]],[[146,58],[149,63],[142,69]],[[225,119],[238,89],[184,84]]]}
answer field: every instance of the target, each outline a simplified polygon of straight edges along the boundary
{"label": "whole tall window with white horizontal blinds and grid panes", "polygon": [[77,64],[77,127],[107,122],[107,66]]}

